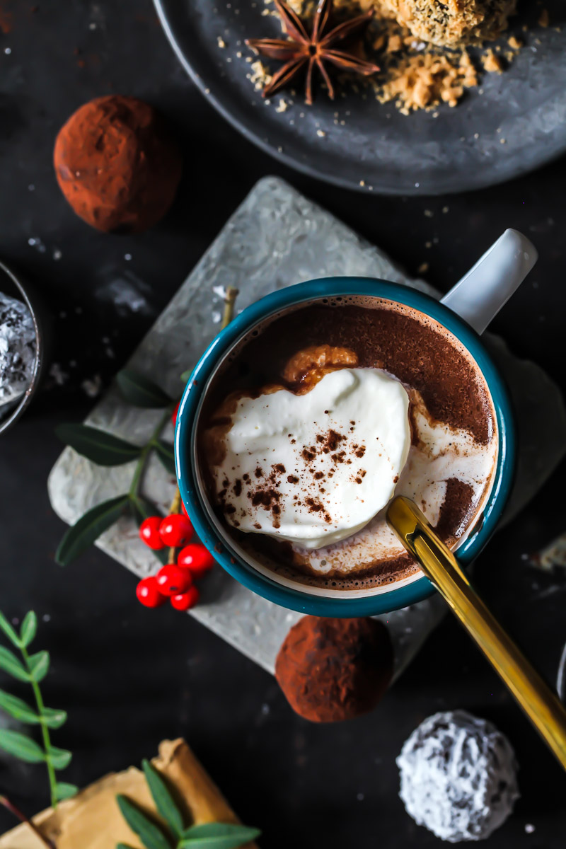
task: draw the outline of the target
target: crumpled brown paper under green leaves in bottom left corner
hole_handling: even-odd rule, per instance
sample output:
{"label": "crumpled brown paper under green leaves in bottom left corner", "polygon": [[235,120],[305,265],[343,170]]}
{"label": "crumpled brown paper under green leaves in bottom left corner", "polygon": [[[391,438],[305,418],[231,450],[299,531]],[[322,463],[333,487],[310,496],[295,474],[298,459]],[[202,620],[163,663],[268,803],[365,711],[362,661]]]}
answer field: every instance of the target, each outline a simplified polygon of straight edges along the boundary
{"label": "crumpled brown paper under green leaves in bottom left corner", "polygon": [[[164,740],[152,763],[165,776],[171,790],[177,791],[177,802],[188,825],[239,822],[184,740]],[[143,849],[120,814],[118,793],[159,819],[143,772],[130,767],[123,773],[105,775],[77,796],[61,802],[56,810],[50,807],[38,813],[33,821],[57,849],[114,849],[120,841],[132,849]],[[45,849],[45,844],[29,826],[21,824],[0,837],[0,849]],[[247,843],[244,849],[257,846]]]}

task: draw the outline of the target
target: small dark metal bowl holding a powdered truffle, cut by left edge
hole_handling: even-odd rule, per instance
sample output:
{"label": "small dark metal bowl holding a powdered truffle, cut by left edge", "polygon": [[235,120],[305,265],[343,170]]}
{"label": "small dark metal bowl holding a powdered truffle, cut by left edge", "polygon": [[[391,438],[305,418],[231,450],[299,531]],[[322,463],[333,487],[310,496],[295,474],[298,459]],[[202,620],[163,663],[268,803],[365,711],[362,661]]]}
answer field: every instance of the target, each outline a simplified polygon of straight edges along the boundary
{"label": "small dark metal bowl holding a powdered truffle, cut by left edge", "polygon": [[17,278],[3,262],[0,262],[0,292],[24,301],[31,313],[31,320],[36,333],[36,357],[30,384],[19,399],[5,405],[6,411],[0,407],[0,434],[2,434],[20,419],[36,392],[46,359],[46,333],[37,295],[29,284],[24,283],[21,278]]}

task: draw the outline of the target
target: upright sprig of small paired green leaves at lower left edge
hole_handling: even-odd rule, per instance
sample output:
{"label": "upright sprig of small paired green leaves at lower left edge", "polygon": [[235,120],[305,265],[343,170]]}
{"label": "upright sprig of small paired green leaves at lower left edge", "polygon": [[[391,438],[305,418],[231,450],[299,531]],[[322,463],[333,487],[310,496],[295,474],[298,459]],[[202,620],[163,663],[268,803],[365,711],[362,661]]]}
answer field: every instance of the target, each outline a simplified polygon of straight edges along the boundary
{"label": "upright sprig of small paired green leaves at lower left edge", "polygon": [[[70,751],[59,749],[51,742],[49,732],[61,728],[66,722],[67,714],[65,711],[46,707],[43,703],[39,683],[48,674],[49,653],[48,651],[38,651],[30,655],[28,652],[37,631],[37,616],[33,610],[26,613],[19,633],[8,622],[6,616],[0,612],[0,630],[3,631],[10,643],[18,649],[21,656],[20,660],[13,651],[0,645],[0,669],[7,672],[12,678],[16,678],[17,681],[29,683],[35,699],[35,706],[31,706],[18,696],[0,689],[0,709],[25,725],[36,725],[41,729],[40,744],[28,734],[22,734],[20,731],[14,731],[10,728],[0,728],[0,749],[9,752],[10,755],[14,755],[20,761],[45,763],[48,771],[51,804],[53,807],[57,807],[58,801],[74,796],[78,788],[75,784],[58,781],[55,774],[69,766],[72,755]],[[30,824],[29,820],[5,797],[0,796],[0,803]],[[36,830],[32,824],[31,828]],[[39,836],[42,837],[44,842],[48,842],[41,834]]]}

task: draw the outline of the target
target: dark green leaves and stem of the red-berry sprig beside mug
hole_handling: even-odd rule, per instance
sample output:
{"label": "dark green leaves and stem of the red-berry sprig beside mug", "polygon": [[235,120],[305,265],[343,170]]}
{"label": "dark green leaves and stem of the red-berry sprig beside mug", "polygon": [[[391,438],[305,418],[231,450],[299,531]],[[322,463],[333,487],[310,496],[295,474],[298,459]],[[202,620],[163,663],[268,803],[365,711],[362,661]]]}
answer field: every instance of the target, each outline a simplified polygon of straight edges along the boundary
{"label": "dark green leaves and stem of the red-berry sprig beside mug", "polygon": [[[233,318],[233,308],[238,290],[229,288],[224,301],[224,316],[221,329],[225,328]],[[186,383],[190,372],[181,376]],[[74,448],[99,466],[119,466],[136,460],[132,481],[127,492],[109,498],[87,510],[80,519],[64,533],[55,553],[55,559],[60,565],[68,565],[82,554],[104,531],[117,522],[122,515],[130,514],[141,525],[149,516],[159,515],[160,510],[148,498],[141,494],[143,475],[147,469],[152,453],[160,460],[165,470],[175,475],[175,453],[173,446],[161,439],[165,424],[171,419],[171,414],[177,405],[177,400],[168,396],[160,386],[143,374],[138,374],[131,368],[124,368],[116,375],[116,384],[124,400],[132,407],[163,410],[160,419],[155,424],[149,440],[144,445],[113,436],[105,430],[91,427],[88,424],[59,424],[55,433],[65,445]],[[169,554],[165,549],[154,551],[162,563],[166,563]]]}

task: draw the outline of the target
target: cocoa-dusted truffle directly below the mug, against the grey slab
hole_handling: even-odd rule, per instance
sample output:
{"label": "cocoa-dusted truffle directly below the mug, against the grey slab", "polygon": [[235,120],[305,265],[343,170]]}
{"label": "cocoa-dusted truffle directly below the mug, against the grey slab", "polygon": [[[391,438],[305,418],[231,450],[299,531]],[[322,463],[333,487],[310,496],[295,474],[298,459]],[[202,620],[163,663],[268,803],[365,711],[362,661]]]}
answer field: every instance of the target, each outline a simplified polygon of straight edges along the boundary
{"label": "cocoa-dusted truffle directly below the mug, against the grey slab", "polygon": [[371,711],[391,680],[393,649],[378,620],[304,616],[283,641],[275,675],[289,705],[311,722]]}

